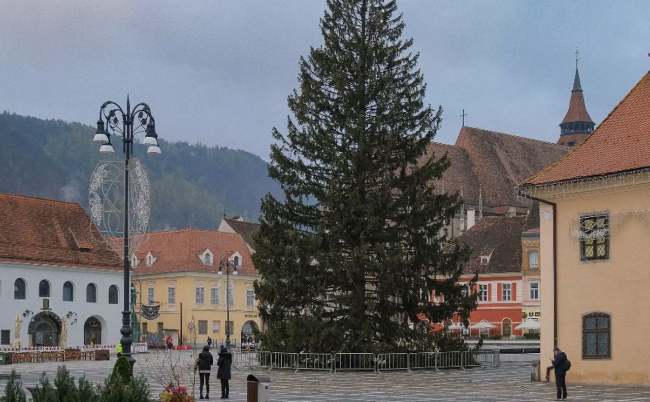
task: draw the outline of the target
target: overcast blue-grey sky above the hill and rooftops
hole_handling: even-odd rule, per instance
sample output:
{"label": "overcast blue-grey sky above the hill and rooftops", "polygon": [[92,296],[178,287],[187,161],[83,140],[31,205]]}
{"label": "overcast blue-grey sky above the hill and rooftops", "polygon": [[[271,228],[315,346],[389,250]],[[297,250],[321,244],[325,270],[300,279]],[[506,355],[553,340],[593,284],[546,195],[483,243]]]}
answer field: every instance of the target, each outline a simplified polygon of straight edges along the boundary
{"label": "overcast blue-grey sky above the hill and rooftops", "polygon": [[[0,110],[94,125],[111,99],[149,103],[159,136],[268,160],[322,0],[0,0]],[[580,78],[600,121],[650,69],[649,1],[398,2],[421,52],[435,138],[466,124],[555,142]],[[164,150],[163,150],[164,152]]]}

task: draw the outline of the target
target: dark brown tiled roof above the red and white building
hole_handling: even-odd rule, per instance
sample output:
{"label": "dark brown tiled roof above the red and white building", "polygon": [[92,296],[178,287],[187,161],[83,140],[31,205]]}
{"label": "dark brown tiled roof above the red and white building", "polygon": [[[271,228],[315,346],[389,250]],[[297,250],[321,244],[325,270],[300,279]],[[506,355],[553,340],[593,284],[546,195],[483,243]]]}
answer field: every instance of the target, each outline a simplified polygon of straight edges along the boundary
{"label": "dark brown tiled roof above the red and white building", "polygon": [[[458,238],[472,249],[464,273],[521,272],[521,233],[525,216],[488,216]],[[487,264],[481,257],[490,255]]]}

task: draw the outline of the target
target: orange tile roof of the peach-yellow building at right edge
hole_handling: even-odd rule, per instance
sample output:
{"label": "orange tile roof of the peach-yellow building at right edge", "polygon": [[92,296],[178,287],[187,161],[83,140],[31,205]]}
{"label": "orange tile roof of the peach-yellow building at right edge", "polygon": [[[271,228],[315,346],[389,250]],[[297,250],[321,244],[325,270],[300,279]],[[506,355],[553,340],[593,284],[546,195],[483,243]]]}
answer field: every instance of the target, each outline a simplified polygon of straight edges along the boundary
{"label": "orange tile roof of the peach-yellow building at right edge", "polygon": [[650,71],[566,157],[521,186],[586,179],[650,167]]}

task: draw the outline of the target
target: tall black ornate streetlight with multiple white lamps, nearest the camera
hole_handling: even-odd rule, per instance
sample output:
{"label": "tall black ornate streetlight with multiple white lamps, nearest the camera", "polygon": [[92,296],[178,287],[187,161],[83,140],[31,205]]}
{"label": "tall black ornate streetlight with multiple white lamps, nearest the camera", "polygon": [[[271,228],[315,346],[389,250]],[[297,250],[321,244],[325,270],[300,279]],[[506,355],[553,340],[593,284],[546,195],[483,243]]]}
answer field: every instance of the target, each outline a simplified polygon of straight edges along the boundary
{"label": "tall black ornate streetlight with multiple white lamps, nearest the camera", "polygon": [[[120,119],[122,119],[122,128],[120,128]],[[106,121],[106,124],[104,123]],[[129,360],[131,366],[135,363],[135,358],[131,355],[131,261],[129,259],[129,159],[133,154],[133,140],[136,134],[146,132],[142,144],[148,146],[149,155],[160,155],[161,149],[158,147],[158,136],[155,129],[155,120],[151,115],[151,109],[146,103],[138,103],[131,110],[131,101],[129,96],[126,98],[126,112],[113,101],[107,101],[99,108],[99,120],[97,121],[97,131],[94,142],[101,144],[99,153],[110,155],[114,153],[112,144],[110,144],[110,135],[116,135],[122,138],[122,150],[125,155],[124,160],[124,216],[123,216],[123,239],[124,239],[124,283],[123,283],[123,301],[124,310],[122,311],[122,355]]]}

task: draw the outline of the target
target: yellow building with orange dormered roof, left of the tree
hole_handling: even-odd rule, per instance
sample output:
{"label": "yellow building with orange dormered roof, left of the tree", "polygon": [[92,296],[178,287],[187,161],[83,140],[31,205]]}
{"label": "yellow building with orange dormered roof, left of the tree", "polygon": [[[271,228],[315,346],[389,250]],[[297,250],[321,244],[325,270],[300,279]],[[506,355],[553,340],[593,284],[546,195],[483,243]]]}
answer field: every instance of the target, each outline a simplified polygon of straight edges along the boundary
{"label": "yellow building with orange dormered roof, left of the tree", "polygon": [[[226,260],[234,263],[228,275],[221,264]],[[136,310],[144,316],[148,310],[153,316],[159,313],[151,320],[140,315],[143,336],[164,333],[174,344],[192,344],[195,335],[196,344],[205,344],[208,337],[215,345],[224,344],[229,280],[231,342],[254,347],[253,328],[262,328],[253,290],[259,273],[239,234],[201,229],[151,233],[131,262]]]}

